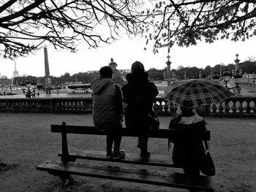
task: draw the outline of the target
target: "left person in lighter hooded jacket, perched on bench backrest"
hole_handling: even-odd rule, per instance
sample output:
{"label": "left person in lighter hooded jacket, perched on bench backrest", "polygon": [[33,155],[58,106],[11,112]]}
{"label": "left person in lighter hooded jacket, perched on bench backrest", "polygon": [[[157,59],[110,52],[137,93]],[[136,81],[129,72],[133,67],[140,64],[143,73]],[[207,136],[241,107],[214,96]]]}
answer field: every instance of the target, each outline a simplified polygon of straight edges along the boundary
{"label": "left person in lighter hooded jacket, perched on bench backrest", "polygon": [[107,132],[107,157],[121,159],[125,156],[124,151],[120,151],[123,113],[121,89],[113,83],[110,66],[103,66],[99,74],[100,77],[91,82],[94,126],[99,131]]}

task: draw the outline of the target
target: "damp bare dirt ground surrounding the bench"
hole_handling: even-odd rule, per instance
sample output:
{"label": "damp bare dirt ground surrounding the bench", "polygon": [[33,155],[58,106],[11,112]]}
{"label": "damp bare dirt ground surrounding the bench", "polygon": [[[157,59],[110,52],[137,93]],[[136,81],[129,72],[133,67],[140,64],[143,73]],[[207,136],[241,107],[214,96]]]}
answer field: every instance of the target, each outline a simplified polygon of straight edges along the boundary
{"label": "damp bare dirt ground surrounding the bench", "polygon": [[[0,191],[56,191],[61,180],[35,169],[48,159],[58,159],[60,134],[50,133],[50,124],[66,121],[72,125],[92,125],[91,115],[52,115],[34,113],[0,113],[0,163],[10,169],[0,172]],[[161,117],[162,128],[170,118]],[[212,178],[217,191],[256,191],[256,119],[206,118],[211,130],[211,154],[217,175]],[[97,141],[97,143],[95,143]],[[102,143],[104,145],[102,145]],[[123,139],[127,153],[139,153],[136,141]],[[69,136],[69,150],[85,148],[105,150],[105,139]],[[150,139],[152,155],[171,155],[167,142]],[[138,185],[110,180],[75,177],[75,185],[65,191],[186,191],[153,185]]]}

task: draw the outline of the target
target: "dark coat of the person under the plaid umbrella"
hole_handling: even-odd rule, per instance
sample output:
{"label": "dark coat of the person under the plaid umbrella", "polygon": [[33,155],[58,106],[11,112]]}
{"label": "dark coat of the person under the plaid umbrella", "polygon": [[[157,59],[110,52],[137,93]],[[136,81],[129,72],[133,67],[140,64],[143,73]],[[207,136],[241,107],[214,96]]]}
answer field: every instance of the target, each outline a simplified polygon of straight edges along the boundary
{"label": "dark coat of the person under the plaid umbrella", "polygon": [[[183,130],[206,130],[206,121],[198,115],[191,117],[176,116],[170,120],[169,128]],[[206,150],[203,141],[189,140],[179,141],[170,140],[173,146],[173,163],[180,166],[195,166],[206,162]]]}

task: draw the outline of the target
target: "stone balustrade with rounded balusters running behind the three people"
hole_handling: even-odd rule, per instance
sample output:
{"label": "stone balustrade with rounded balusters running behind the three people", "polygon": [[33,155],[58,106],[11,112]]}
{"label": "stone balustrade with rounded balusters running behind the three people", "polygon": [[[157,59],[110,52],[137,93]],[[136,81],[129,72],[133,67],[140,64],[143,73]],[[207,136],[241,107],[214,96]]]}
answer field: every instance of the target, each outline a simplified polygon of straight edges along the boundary
{"label": "stone balustrade with rounded balusters running behind the three people", "polygon": [[[154,102],[159,115],[176,115],[178,106],[163,98]],[[91,113],[91,98],[0,99],[0,112]],[[256,116],[256,97],[233,96],[219,104],[198,108],[201,115]]]}

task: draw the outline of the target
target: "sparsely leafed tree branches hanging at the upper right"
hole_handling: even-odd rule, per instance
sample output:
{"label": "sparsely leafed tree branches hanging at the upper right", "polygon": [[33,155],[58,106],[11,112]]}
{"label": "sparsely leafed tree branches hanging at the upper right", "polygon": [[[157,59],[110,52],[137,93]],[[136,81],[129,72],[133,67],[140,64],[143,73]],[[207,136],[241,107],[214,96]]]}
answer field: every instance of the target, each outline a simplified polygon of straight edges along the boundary
{"label": "sparsely leafed tree branches hanging at the upper right", "polygon": [[146,36],[154,41],[154,52],[159,47],[189,46],[219,39],[244,41],[256,35],[254,0],[158,1],[154,12],[158,14],[151,20],[151,31]]}

